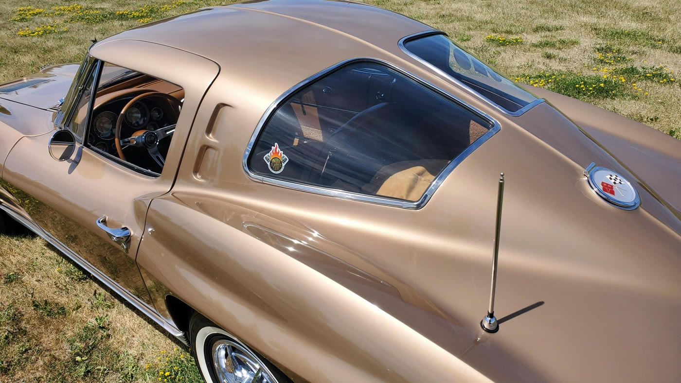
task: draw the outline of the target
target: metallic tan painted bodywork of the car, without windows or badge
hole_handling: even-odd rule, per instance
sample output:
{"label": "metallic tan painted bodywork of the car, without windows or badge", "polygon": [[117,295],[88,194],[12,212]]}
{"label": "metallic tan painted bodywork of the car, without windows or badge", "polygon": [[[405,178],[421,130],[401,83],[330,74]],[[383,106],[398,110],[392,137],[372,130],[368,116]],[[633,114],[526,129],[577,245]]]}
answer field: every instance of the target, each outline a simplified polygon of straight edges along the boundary
{"label": "metallic tan painted bodywork of the car, without windows or badge", "polygon": [[[251,1],[99,41],[96,59],[185,90],[161,176],[83,146],[52,160],[57,114],[46,109],[70,84],[60,71],[75,73],[52,67],[39,76],[53,83],[32,96],[0,94],[0,207],[173,335],[196,310],[297,381],[678,382],[681,142],[538,88],[529,90],[550,103],[509,116],[398,46],[428,30],[358,3]],[[244,171],[270,105],[358,57],[412,73],[501,126],[418,210]],[[633,181],[640,207],[593,193],[582,175],[591,162]],[[500,171],[501,330],[487,334]],[[131,229],[127,254],[97,231],[101,215]]]}

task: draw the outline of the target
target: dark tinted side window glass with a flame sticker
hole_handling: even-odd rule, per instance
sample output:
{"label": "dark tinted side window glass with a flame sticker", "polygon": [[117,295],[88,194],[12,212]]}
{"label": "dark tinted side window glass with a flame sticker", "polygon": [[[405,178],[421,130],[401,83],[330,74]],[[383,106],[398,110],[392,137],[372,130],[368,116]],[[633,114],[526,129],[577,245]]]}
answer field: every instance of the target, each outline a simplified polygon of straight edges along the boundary
{"label": "dark tinted side window glass with a flame sticker", "polygon": [[352,63],[289,96],[264,124],[247,164],[268,178],[418,201],[491,128],[392,69]]}

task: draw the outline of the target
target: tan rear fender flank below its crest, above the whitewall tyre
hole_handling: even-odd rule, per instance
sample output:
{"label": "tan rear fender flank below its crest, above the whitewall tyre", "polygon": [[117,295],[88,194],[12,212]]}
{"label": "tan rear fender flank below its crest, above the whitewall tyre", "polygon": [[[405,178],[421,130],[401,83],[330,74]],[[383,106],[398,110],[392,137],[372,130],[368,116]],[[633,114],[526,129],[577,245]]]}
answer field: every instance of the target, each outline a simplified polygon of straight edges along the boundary
{"label": "tan rear fender flank below its crest, above the whitewall tyre", "polygon": [[[204,202],[177,194],[155,199],[138,263],[276,363],[311,382],[486,380],[379,307],[247,233],[247,225],[205,214]],[[223,212],[225,220],[244,221],[238,210]]]}

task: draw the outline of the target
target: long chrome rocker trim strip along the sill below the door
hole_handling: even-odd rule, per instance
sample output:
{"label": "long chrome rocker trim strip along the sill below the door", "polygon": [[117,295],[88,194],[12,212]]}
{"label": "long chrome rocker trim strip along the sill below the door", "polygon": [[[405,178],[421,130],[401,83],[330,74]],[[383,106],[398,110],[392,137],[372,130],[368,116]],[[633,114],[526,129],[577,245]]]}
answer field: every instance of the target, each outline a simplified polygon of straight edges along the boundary
{"label": "long chrome rocker trim strip along the sill below the door", "polygon": [[76,254],[76,252],[68,248],[66,245],[62,244],[59,241],[59,239],[53,237],[50,233],[45,231],[38,224],[35,224],[35,222],[33,222],[32,220],[29,220],[28,218],[22,216],[22,214],[20,214],[20,212],[18,212],[15,207],[12,207],[12,205],[8,205],[3,201],[0,201],[0,210],[6,212],[10,217],[14,218],[14,220],[27,227],[27,229],[33,231],[33,233],[35,233],[39,237],[42,237],[42,239],[45,239],[46,242],[57,248],[57,250],[65,254],[78,266],[82,267],[87,272],[95,276],[95,278],[97,278],[101,283],[103,283],[104,286],[110,288],[112,291],[118,294],[118,296],[122,297],[131,305],[133,305],[137,310],[140,310],[142,314],[146,315],[149,319],[153,320],[153,322],[158,324],[162,329],[168,331],[170,335],[179,339],[180,342],[187,343],[187,339],[185,339],[183,331],[180,331],[174,323],[165,320],[155,308],[151,307],[146,302],[142,301],[141,299],[133,295],[133,293],[130,293],[129,290],[121,286],[121,284],[118,284],[118,282],[112,280],[109,276],[107,276],[105,273],[97,269],[97,267],[93,266],[91,263],[83,259],[80,255]]}

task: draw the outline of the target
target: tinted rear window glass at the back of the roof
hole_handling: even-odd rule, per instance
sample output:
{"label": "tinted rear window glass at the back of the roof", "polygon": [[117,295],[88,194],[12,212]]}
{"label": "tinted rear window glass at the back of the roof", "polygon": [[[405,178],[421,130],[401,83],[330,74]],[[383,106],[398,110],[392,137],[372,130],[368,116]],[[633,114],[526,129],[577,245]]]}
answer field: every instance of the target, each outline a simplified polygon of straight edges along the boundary
{"label": "tinted rear window glass at the back of the roof", "polygon": [[405,48],[509,112],[516,112],[537,99],[445,35],[410,39],[405,42]]}

